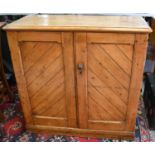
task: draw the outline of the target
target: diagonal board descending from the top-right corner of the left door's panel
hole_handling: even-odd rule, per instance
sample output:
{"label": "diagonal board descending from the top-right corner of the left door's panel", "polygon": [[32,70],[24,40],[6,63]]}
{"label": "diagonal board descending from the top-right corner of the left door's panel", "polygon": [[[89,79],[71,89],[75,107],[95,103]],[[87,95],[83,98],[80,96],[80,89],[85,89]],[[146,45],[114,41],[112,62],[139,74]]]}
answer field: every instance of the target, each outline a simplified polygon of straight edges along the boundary
{"label": "diagonal board descending from the top-right corner of the left door's panel", "polygon": [[36,80],[36,77],[45,72],[48,66],[52,64],[60,55],[60,46],[58,46],[58,44],[54,44],[51,48],[49,48],[48,51],[46,51],[41,59],[35,62],[33,66],[25,73],[27,84],[29,85],[33,82],[33,80]]}

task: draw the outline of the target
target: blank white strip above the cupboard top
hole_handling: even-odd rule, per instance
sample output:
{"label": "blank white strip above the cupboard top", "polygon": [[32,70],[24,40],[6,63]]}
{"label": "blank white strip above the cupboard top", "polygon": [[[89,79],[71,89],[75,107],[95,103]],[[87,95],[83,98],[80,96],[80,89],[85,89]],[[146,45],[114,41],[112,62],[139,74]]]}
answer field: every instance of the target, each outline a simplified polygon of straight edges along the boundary
{"label": "blank white strip above the cupboard top", "polygon": [[148,13],[155,0],[0,0],[0,13]]}

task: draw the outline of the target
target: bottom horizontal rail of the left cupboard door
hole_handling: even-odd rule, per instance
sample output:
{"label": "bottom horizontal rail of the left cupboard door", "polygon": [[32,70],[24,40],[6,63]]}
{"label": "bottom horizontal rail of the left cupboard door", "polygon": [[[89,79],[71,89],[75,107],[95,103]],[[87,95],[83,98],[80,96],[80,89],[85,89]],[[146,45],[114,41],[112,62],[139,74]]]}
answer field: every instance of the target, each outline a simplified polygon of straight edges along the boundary
{"label": "bottom horizontal rail of the left cupboard door", "polygon": [[47,117],[47,116],[33,116],[35,125],[47,125],[55,127],[66,127],[67,120],[66,118],[61,117]]}

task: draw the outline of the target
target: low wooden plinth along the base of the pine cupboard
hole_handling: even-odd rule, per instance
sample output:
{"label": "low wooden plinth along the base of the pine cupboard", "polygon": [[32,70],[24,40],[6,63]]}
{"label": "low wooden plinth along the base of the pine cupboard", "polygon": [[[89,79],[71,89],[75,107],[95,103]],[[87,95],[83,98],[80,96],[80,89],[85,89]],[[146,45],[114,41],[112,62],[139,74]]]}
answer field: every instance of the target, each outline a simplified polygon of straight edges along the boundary
{"label": "low wooden plinth along the base of the pine cupboard", "polygon": [[79,128],[51,127],[43,125],[27,125],[27,130],[34,133],[48,133],[50,135],[66,135],[90,138],[110,138],[133,140],[134,132],[128,131],[103,131]]}

